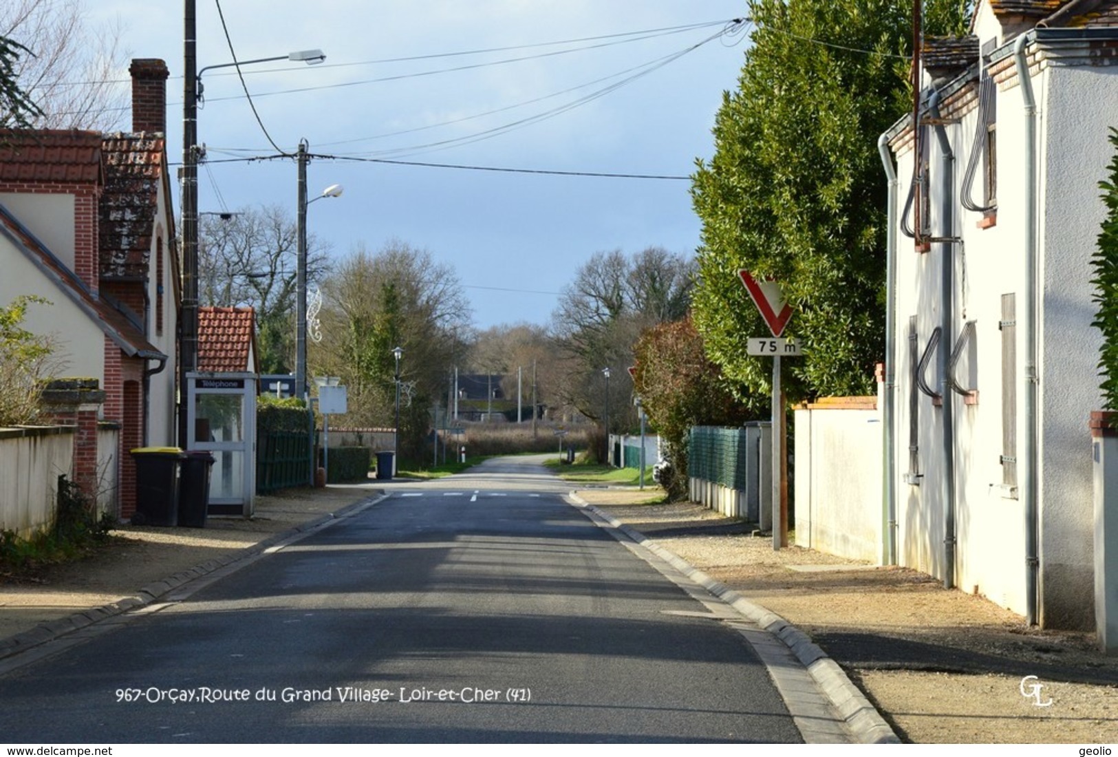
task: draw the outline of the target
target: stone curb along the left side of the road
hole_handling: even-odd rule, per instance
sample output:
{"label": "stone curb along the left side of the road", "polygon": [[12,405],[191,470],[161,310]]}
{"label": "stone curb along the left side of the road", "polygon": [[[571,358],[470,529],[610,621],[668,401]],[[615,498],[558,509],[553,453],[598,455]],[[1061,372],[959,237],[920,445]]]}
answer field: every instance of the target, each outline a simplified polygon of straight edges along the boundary
{"label": "stone curb along the left side of the road", "polygon": [[197,565],[193,568],[182,570],[173,576],[169,576],[168,578],[148,584],[143,588],[139,589],[133,596],[121,597],[116,602],[111,602],[107,605],[102,605],[100,607],[89,607],[87,609],[78,611],[66,617],[44,621],[29,631],[20,632],[12,636],[8,636],[7,638],[0,638],[0,660],[20,654],[35,646],[46,644],[47,642],[54,641],[59,636],[70,634],[78,628],[84,628],[87,625],[98,623],[116,615],[122,615],[129,611],[136,609],[138,607],[145,607],[158,600],[163,595],[179,588],[183,584],[188,584],[196,578],[209,575],[215,570],[233,565],[234,562],[239,562],[247,558],[255,557],[266,549],[303,533],[304,531],[316,529],[340,518],[347,518],[354,514],[358,510],[371,508],[383,498],[383,492],[367,496],[359,502],[341,508],[337,512],[326,513],[325,515],[320,515],[314,520],[300,523],[299,526],[293,526],[286,531],[273,533],[268,538],[257,541],[252,547],[245,547],[236,552],[230,552],[229,555],[206,560],[201,565]]}

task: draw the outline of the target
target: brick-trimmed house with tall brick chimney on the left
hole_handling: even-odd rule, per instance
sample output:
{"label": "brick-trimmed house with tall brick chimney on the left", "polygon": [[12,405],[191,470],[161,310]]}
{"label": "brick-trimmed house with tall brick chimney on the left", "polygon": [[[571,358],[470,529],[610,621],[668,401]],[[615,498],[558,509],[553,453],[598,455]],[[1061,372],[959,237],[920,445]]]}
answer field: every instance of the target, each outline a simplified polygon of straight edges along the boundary
{"label": "brick-trimmed house with tall brick chimney on the left", "polygon": [[[127,451],[174,443],[179,304],[168,70],[157,59],[133,60],[130,70],[132,132],[0,133],[0,303],[20,294],[50,301],[31,309],[27,327],[54,335],[65,375],[96,378],[105,391],[102,419],[121,429],[124,518],[135,509]],[[95,465],[82,461],[96,455],[76,458],[76,467]]]}

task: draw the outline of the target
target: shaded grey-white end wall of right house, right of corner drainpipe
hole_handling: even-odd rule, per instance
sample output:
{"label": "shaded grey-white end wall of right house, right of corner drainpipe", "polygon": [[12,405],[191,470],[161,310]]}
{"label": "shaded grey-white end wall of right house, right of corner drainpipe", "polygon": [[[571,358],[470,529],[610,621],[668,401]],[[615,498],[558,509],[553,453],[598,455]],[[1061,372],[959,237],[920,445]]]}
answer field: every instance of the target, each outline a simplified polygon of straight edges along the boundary
{"label": "shaded grey-white end wall of right house, right of corner drainpipe", "polygon": [[[1114,66],[1051,67],[1040,100],[1044,181],[1040,217],[1041,303],[1039,470],[1042,621],[1088,626],[1093,605],[1093,511],[1088,418],[1101,409],[1102,343],[1090,258],[1106,214],[1099,181],[1114,148],[1118,114]],[[1103,114],[1107,114],[1106,116]]]}

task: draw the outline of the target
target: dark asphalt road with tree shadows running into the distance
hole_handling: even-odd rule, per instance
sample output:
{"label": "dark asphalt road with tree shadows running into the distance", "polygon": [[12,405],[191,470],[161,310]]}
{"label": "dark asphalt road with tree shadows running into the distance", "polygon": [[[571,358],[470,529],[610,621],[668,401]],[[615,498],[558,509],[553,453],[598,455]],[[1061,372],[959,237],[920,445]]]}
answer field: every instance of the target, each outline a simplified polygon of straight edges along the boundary
{"label": "dark asphalt road with tree shadows running into the distance", "polygon": [[0,740],[800,741],[746,640],[563,489],[508,460],[390,484],[3,676]]}

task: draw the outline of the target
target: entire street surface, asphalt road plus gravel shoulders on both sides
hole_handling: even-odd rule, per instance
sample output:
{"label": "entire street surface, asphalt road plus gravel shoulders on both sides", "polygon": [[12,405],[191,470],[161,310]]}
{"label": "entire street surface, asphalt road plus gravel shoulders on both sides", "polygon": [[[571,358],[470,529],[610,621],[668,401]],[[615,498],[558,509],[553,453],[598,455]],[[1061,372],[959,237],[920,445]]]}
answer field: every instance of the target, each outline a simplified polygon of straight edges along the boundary
{"label": "entire street surface, asphalt road plus gravel shoulders on both sides", "polygon": [[[107,589],[94,577],[112,566],[93,565],[7,594],[0,635],[25,626],[0,649],[11,739],[879,737],[840,732],[833,708],[843,689],[807,676],[784,642],[758,630],[758,619],[773,623],[760,611],[808,633],[901,740],[1090,742],[1115,732],[1118,665],[1083,634],[1026,630],[915,571],[773,552],[747,524],[693,504],[633,504],[648,492],[582,490],[576,501],[598,507],[580,512],[562,501],[570,484],[538,462],[304,491],[266,499],[254,521],[207,529],[122,531],[136,547]],[[318,524],[315,512],[325,515]],[[312,526],[266,549],[236,549],[262,536],[241,529],[300,519]],[[628,538],[642,533],[651,550]],[[664,548],[705,576],[684,577],[686,565]],[[240,559],[215,569],[215,557]],[[199,578],[181,573],[207,560]],[[122,576],[136,584],[125,590]],[[707,577],[740,598],[716,599],[695,583]],[[73,631],[65,609],[50,615],[32,596],[73,603],[69,612],[108,596],[145,604]],[[32,641],[45,636],[53,641]],[[1025,675],[1038,676],[1036,701],[1021,691]],[[202,701],[238,696],[248,701]],[[172,701],[182,697],[193,701]]]}

